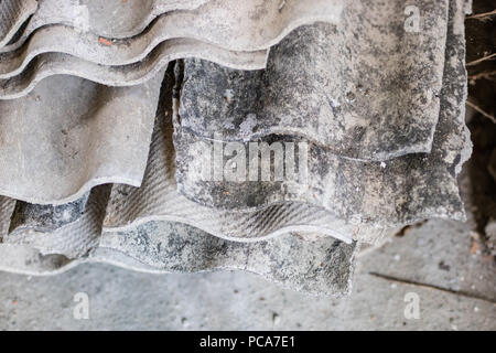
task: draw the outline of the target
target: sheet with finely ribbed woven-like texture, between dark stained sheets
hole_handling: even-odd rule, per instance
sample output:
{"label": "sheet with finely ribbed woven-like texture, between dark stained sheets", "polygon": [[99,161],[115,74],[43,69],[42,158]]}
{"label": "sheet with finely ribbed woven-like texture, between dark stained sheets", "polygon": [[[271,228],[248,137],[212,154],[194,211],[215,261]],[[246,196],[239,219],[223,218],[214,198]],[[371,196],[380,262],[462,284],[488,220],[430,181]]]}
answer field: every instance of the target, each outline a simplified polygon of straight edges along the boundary
{"label": "sheet with finely ribbed woven-like texture, between dark stained sheets", "polygon": [[[170,122],[169,122],[170,125]],[[362,233],[325,210],[303,203],[281,203],[256,212],[233,213],[196,204],[177,192],[172,131],[158,120],[149,163],[139,189],[114,185],[104,232],[126,232],[153,221],[180,222],[228,240],[259,242],[288,232],[319,233],[345,243]]]}

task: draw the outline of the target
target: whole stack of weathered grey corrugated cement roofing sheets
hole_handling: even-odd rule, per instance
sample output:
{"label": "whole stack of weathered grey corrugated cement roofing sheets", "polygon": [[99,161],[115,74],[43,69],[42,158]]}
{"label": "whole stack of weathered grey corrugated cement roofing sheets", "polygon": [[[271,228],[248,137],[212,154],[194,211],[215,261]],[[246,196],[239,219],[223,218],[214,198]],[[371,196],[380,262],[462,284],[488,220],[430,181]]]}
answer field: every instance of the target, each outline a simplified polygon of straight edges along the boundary
{"label": "whole stack of weathered grey corrugated cement roofing sheets", "polygon": [[465,217],[468,11],[0,1],[0,269],[240,269],[349,292],[362,245]]}

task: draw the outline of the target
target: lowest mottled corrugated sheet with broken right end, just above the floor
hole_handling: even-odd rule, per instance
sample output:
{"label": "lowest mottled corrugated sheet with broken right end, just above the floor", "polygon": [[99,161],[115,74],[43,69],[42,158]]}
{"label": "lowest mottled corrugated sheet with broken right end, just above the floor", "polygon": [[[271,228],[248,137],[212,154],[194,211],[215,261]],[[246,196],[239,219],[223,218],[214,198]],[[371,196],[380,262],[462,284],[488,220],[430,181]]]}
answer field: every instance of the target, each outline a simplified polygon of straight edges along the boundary
{"label": "lowest mottled corrugated sheet with broken right end, just above the floor", "polygon": [[[158,232],[147,233],[150,232],[147,227]],[[153,234],[148,237],[147,246],[140,240],[143,234]],[[133,258],[136,263],[130,265],[126,264],[126,258],[112,257],[111,261],[131,269],[147,266],[155,272],[244,270],[292,290],[344,296],[352,287],[358,246],[328,237],[308,242],[298,234],[258,243],[236,243],[182,224],[155,222],[130,233],[108,235],[106,239],[104,235],[96,257],[103,249]],[[110,256],[104,253],[101,257]]]}

